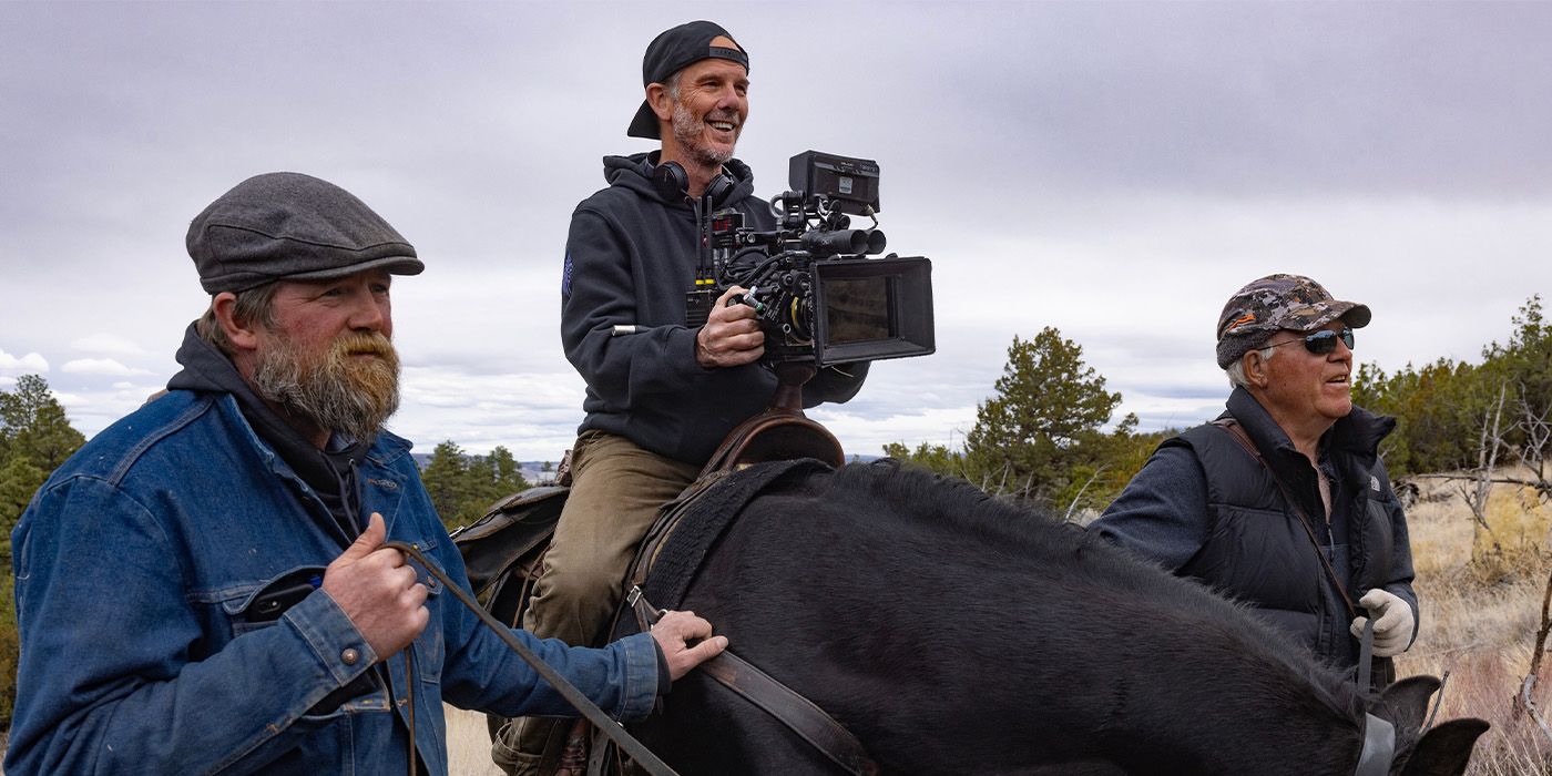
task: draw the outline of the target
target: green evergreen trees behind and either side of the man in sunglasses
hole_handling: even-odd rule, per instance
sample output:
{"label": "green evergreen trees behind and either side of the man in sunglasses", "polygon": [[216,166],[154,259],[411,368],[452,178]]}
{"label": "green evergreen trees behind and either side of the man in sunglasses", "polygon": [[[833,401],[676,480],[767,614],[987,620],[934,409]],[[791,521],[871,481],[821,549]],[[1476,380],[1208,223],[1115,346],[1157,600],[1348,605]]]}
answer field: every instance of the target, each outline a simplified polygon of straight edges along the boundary
{"label": "green evergreen trees behind and either side of the man in sunglasses", "polygon": [[[1440,359],[1395,372],[1377,363],[1358,366],[1353,402],[1397,417],[1395,433],[1381,447],[1392,475],[1467,470],[1487,476],[1481,472],[1523,462],[1530,473],[1521,484],[1552,498],[1546,467],[1552,326],[1543,318],[1541,296],[1530,296],[1512,323],[1509,341],[1484,348],[1481,363]],[[1015,335],[1003,376],[976,405],[962,447],[891,442],[883,452],[1055,514],[1102,511],[1176,430],[1139,433],[1136,416],[1127,414],[1107,431],[1121,394],[1107,391],[1105,377],[1082,355],[1083,348],[1054,327],[1032,340]]]}

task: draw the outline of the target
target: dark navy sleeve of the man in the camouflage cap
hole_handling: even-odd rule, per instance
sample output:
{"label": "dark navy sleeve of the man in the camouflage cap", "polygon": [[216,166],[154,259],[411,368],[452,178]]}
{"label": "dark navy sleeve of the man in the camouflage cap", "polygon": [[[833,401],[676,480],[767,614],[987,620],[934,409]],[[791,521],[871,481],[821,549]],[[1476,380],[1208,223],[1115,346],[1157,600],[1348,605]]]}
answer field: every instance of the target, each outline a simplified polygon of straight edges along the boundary
{"label": "dark navy sleeve of the man in the camouflage cap", "polygon": [[1159,447],[1088,529],[1170,571],[1184,566],[1212,529],[1197,455],[1184,445]]}

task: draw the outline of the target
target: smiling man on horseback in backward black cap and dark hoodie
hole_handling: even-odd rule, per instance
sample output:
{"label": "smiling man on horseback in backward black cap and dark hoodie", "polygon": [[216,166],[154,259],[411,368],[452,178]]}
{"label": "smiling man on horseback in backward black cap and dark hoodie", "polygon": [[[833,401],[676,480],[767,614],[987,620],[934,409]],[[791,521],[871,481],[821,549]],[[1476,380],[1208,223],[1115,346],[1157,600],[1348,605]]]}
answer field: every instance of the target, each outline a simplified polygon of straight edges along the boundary
{"label": "smiling man on horseback in backward black cap and dark hoodie", "polygon": [[[765,337],[753,307],[728,306],[743,289],[723,293],[705,321],[686,301],[711,282],[698,265],[702,219],[736,208],[748,227],[774,228],[750,168],[733,158],[750,113],[748,51],[715,23],[688,22],[647,45],[641,82],[646,99],[627,135],[661,146],[604,157],[608,186],[577,205],[566,236],[560,341],[587,382],[585,417],[571,449],[571,494],[525,624],[570,644],[604,636],[658,508],[776,390],[759,363]],[[823,369],[804,399],[844,402],[866,371]],[[557,729],[545,720],[509,725],[497,762],[532,773]]]}

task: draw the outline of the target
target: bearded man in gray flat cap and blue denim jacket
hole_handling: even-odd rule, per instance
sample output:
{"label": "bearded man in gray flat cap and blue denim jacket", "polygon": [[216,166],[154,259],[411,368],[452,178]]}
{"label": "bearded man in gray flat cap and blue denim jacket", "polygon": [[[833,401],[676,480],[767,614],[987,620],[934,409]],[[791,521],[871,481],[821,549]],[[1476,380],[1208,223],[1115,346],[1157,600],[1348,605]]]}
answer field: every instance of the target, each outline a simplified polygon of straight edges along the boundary
{"label": "bearded man in gray flat cap and blue denim jacket", "polygon": [[[414,248],[345,189],[276,172],[205,208],[188,250],[211,303],[183,371],[54,472],[11,537],[6,773],[438,774],[442,702],[574,714],[383,546],[467,588],[410,444],[382,428],[399,402],[388,292],[424,268]],[[726,644],[672,618],[604,649],[517,635],[641,717]]]}

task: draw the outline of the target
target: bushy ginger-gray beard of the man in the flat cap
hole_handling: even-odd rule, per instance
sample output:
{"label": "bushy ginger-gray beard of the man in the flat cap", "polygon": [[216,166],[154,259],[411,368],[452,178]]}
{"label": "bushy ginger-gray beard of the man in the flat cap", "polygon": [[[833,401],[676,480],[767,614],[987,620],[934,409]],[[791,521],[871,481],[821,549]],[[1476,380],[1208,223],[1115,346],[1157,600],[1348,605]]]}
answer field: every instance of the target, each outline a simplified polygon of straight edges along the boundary
{"label": "bushy ginger-gray beard of the man in the flat cap", "polygon": [[318,428],[371,442],[399,408],[399,359],[352,365],[338,343],[323,363],[306,363],[289,341],[264,351],[253,369],[253,390]]}

